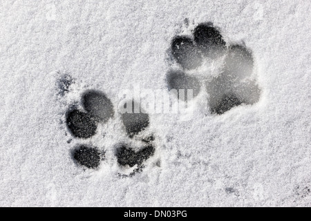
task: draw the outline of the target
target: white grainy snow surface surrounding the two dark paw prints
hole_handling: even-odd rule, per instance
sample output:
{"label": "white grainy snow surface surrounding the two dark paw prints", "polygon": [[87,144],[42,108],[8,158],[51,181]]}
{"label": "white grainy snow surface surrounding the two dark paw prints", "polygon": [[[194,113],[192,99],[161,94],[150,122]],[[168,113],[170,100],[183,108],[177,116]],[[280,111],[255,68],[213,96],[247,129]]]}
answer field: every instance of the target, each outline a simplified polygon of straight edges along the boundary
{"label": "white grainy snow surface surrounding the two dark paw prints", "polygon": [[[308,0],[1,1],[0,206],[311,206],[310,11]],[[120,90],[166,89],[171,39],[207,21],[252,50],[259,101],[213,115],[203,91],[188,121],[149,115],[156,153],[120,177],[115,144],[131,142]],[[64,75],[75,83],[62,96]],[[64,124],[88,89],[115,107],[104,138]],[[77,165],[77,144],[106,160]]]}

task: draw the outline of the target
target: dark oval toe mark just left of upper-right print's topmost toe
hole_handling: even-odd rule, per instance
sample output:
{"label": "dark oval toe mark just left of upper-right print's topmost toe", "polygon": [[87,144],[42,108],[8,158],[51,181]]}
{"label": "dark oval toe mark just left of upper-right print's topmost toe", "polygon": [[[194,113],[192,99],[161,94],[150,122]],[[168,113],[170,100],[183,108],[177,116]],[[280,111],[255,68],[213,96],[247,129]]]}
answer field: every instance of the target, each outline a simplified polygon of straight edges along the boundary
{"label": "dark oval toe mark just left of upper-right print's topmost toe", "polygon": [[171,42],[171,50],[173,57],[182,68],[194,69],[202,63],[202,56],[189,37],[175,37]]}

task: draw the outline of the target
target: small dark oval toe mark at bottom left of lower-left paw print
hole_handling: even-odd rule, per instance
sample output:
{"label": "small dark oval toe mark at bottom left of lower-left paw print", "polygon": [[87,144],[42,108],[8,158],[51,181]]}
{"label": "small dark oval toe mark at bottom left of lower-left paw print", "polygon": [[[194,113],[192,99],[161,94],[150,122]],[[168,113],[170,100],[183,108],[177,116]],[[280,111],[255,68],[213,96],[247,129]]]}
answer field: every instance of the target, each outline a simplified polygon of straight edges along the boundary
{"label": "small dark oval toe mark at bottom left of lower-left paw print", "polygon": [[81,145],[77,146],[72,154],[77,164],[81,166],[86,166],[89,169],[96,169],[100,166],[101,154],[97,148]]}

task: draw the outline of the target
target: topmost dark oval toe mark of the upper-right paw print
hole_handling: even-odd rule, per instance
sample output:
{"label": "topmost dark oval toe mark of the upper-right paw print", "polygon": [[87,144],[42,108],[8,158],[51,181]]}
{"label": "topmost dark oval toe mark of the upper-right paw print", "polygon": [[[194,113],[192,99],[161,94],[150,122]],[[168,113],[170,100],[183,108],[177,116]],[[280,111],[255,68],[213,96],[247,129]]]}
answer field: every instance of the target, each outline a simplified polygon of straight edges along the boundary
{"label": "topmost dark oval toe mark of the upper-right paw print", "polygon": [[212,57],[223,52],[226,46],[223,36],[211,23],[201,23],[196,26],[194,41],[202,53]]}

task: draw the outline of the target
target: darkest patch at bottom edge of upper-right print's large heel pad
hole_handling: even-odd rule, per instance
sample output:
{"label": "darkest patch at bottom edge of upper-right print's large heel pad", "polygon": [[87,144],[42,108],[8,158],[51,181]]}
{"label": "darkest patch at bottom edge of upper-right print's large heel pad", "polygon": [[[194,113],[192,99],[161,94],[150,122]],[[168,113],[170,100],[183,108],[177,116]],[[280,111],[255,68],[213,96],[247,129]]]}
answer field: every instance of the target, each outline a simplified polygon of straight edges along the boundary
{"label": "darkest patch at bottom edge of upper-right print's large heel pad", "polygon": [[236,95],[234,94],[223,95],[222,99],[220,99],[219,104],[211,108],[211,113],[217,113],[218,115],[221,115],[226,111],[229,111],[234,106],[239,106],[241,104],[242,104],[241,100],[238,99]]}

